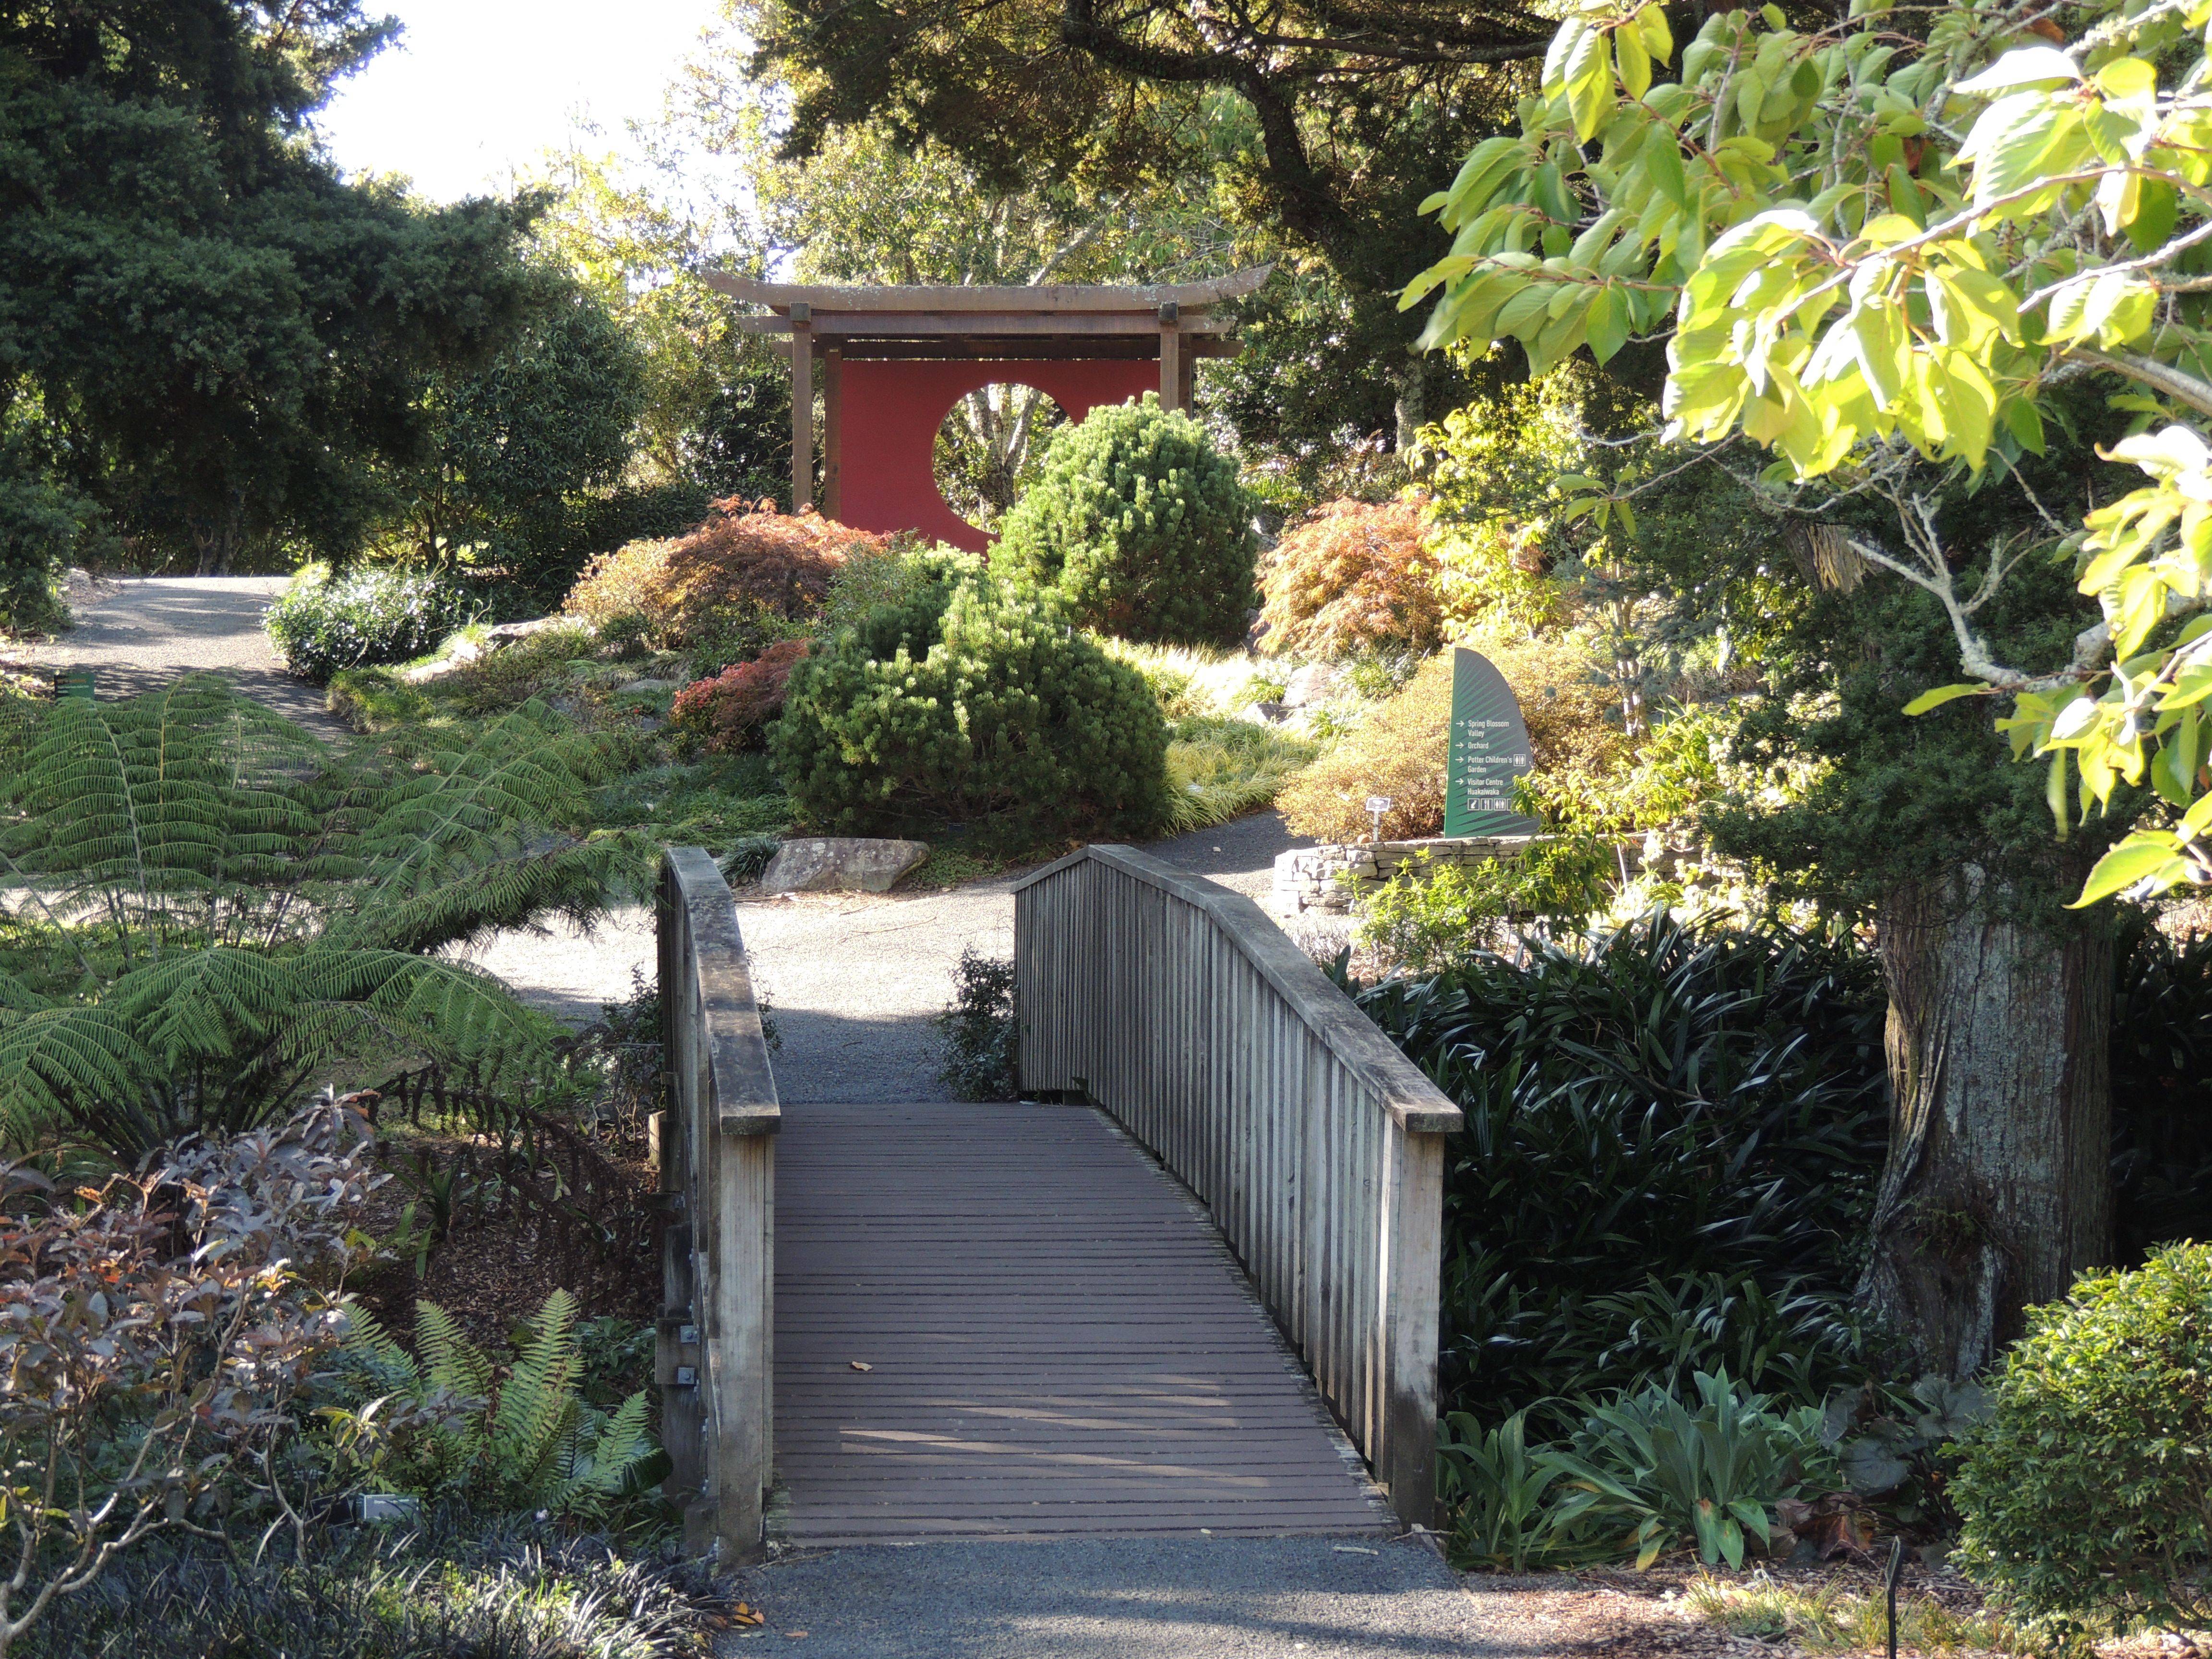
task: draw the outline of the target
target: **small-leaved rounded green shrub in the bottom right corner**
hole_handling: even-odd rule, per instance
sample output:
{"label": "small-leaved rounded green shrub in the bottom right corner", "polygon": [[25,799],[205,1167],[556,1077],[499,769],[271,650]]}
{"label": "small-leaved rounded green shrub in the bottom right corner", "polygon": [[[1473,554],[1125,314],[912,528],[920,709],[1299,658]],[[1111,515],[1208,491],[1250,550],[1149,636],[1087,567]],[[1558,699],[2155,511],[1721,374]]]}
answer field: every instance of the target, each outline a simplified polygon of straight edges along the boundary
{"label": "small-leaved rounded green shrub in the bottom right corner", "polygon": [[2031,1310],[1964,1453],[1955,1559],[2046,1630],[2212,1619],[2212,1245]]}

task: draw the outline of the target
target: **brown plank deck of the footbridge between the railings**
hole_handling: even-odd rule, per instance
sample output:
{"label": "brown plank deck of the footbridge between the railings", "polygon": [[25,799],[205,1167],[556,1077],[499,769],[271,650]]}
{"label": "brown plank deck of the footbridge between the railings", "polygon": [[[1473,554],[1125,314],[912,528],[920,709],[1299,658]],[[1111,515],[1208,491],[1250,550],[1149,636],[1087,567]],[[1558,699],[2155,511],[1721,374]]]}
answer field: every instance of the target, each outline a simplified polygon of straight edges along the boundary
{"label": "brown plank deck of the footbridge between the railings", "polygon": [[1387,1522],[1212,1221],[1077,1106],[783,1110],[776,1475],[794,1544]]}

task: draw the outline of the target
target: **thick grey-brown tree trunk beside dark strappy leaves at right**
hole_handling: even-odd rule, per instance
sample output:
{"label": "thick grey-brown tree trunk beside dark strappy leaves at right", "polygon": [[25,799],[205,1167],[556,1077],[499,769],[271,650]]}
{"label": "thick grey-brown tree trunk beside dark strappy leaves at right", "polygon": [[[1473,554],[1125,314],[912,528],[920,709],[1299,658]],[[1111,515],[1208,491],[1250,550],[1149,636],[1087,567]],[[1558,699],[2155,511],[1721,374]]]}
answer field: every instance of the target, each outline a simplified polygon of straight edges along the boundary
{"label": "thick grey-brown tree trunk beside dark strappy leaves at right", "polygon": [[1982,872],[1896,889],[1889,1164],[1860,1301],[1964,1380],[2112,1245],[2112,940],[1989,916]]}

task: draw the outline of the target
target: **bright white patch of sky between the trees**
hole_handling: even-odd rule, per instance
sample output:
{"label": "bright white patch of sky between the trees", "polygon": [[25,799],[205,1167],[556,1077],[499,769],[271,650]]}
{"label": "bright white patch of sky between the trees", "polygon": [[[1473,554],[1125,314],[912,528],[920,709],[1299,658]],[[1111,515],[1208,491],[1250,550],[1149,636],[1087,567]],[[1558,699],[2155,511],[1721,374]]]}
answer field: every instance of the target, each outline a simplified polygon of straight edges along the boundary
{"label": "bright white patch of sky between the trees", "polygon": [[434,201],[504,192],[580,119],[624,148],[677,64],[719,22],[717,0],[380,0],[398,44],[316,117],[347,173],[405,173]]}

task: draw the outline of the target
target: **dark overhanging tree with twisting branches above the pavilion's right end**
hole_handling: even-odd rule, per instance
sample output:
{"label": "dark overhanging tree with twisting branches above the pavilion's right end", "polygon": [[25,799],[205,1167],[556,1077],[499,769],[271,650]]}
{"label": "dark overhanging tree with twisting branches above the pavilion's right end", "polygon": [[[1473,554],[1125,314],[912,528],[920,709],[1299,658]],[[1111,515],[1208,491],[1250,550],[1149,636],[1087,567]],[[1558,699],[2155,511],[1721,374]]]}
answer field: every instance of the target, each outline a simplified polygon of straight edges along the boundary
{"label": "dark overhanging tree with twisting branches above the pavilion's right end", "polygon": [[[734,15],[759,42],[757,73],[792,88],[790,155],[874,122],[907,148],[947,146],[995,186],[1199,181],[1250,263],[1287,254],[1294,270],[1243,307],[1252,374],[1232,369],[1219,403],[1283,476],[1285,504],[1343,484],[1325,451],[1374,434],[1405,447],[1462,394],[1447,363],[1407,354],[1394,299],[1442,250],[1413,215],[1440,166],[1511,119],[1511,66],[1551,35],[1537,11],[757,0]],[[1298,396],[1256,392],[1281,378]]]}

